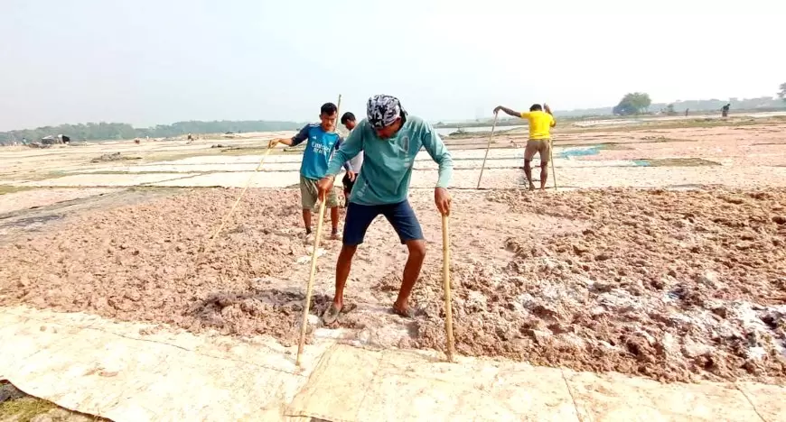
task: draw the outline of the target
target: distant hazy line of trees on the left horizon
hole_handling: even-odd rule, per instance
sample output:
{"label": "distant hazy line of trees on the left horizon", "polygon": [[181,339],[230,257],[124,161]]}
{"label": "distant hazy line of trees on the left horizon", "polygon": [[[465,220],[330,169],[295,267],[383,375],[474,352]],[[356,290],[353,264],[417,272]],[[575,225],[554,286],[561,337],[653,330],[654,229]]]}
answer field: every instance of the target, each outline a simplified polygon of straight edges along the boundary
{"label": "distant hazy line of trees on the left horizon", "polygon": [[0,142],[29,142],[41,140],[45,136],[64,134],[72,141],[106,141],[120,139],[170,138],[186,133],[246,133],[291,131],[303,127],[295,122],[267,122],[263,120],[246,121],[215,121],[215,122],[177,122],[174,124],[158,124],[154,127],[135,128],[130,124],[120,123],[89,123],[61,124],[59,126],[43,126],[35,129],[0,132]]}

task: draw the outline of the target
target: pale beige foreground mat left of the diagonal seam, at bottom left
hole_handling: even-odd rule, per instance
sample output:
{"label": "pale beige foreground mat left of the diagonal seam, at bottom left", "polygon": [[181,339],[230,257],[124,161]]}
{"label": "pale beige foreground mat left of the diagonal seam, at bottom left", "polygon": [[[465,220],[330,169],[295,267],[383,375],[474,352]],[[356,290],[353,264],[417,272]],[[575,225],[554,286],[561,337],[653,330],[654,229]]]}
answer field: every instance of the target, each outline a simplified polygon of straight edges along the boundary
{"label": "pale beige foreground mat left of the diagonal seam, at bottom left", "polygon": [[295,374],[292,349],[272,341],[145,331],[155,328],[0,308],[0,374],[30,395],[115,421],[279,420],[329,345],[306,347],[306,370]]}

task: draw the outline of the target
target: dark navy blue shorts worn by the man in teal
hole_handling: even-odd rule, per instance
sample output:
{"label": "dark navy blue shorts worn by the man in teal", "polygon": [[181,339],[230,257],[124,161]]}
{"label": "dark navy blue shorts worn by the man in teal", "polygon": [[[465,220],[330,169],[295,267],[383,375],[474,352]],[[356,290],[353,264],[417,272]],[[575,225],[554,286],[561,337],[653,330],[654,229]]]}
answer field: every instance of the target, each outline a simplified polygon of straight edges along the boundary
{"label": "dark navy blue shorts worn by the man in teal", "polygon": [[412,210],[412,206],[409,206],[409,201],[379,206],[363,206],[350,202],[344,221],[344,245],[357,246],[363,243],[366,230],[380,214],[385,216],[390,225],[396,229],[401,243],[423,239],[423,230],[420,229],[420,223],[417,222],[415,211]]}

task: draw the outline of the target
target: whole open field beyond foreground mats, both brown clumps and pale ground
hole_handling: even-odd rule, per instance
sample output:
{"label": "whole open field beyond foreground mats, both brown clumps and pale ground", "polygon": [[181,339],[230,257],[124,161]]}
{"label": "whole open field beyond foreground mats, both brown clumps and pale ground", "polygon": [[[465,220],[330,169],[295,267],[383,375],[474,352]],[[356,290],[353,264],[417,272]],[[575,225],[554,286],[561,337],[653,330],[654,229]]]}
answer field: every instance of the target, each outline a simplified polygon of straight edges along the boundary
{"label": "whole open field beyond foreground mats, both brown clumps and pale ground", "polygon": [[[783,385],[786,124],[582,131],[557,133],[557,192],[524,189],[516,131],[494,143],[480,190],[488,138],[448,139],[457,352],[668,383]],[[229,140],[239,152],[214,141],[0,151],[14,161],[0,186],[22,189],[0,196],[0,261],[14,262],[0,267],[0,307],[155,327],[140,335],[296,344],[311,246],[299,155],[276,151],[264,171],[249,171],[269,137]],[[91,162],[116,151],[134,158]],[[60,170],[42,165],[54,160]],[[412,180],[429,251],[416,317],[389,311],[407,254],[380,217],[353,262],[345,301],[354,308],[329,327],[318,316],[341,243],[324,240],[309,344],[444,350],[435,168],[418,157]],[[59,213],[56,224],[42,213]]]}

